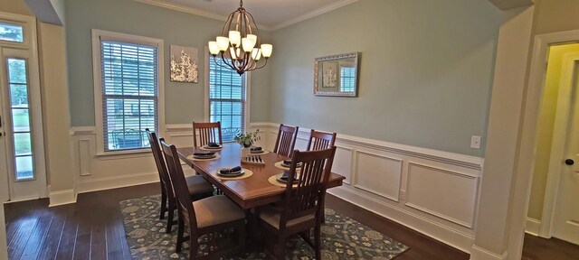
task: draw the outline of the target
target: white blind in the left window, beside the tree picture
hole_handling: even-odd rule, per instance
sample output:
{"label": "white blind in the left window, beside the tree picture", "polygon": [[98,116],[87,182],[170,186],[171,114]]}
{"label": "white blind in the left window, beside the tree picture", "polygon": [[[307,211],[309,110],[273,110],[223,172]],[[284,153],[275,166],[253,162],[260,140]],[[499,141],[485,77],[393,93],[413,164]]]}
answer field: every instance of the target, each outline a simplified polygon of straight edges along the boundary
{"label": "white blind in the left window, beside the tree picture", "polygon": [[157,47],[100,41],[104,150],[149,147],[158,129]]}

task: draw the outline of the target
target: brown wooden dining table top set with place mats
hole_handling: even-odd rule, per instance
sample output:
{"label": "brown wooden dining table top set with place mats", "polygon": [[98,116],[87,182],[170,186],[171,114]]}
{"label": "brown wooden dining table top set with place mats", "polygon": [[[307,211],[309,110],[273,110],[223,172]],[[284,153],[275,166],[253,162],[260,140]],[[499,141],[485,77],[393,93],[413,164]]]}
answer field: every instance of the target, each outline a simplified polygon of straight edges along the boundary
{"label": "brown wooden dining table top set with place mats", "polygon": [[[212,161],[194,161],[187,157],[193,155],[195,147],[177,148],[179,157],[195,171],[214,184],[231,200],[237,203],[243,209],[252,209],[261,205],[267,205],[271,202],[282,199],[285,188],[275,186],[268,181],[271,175],[282,173],[284,170],[275,167],[274,163],[288,159],[277,153],[266,153],[261,155],[265,165],[255,165],[249,163],[240,163],[241,146],[239,144],[223,144],[223,150],[218,151],[221,158]],[[203,151],[206,152],[206,151]],[[242,166],[253,172],[249,178],[242,180],[221,180],[211,174],[224,167]],[[327,188],[333,188],[342,185],[344,176],[332,173],[327,183]]]}

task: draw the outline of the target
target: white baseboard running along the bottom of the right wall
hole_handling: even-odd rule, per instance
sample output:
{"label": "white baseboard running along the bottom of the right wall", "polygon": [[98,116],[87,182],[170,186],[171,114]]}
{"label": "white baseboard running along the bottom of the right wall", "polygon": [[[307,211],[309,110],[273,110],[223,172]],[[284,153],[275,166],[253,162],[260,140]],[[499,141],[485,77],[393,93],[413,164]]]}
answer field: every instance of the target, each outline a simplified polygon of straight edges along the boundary
{"label": "white baseboard running along the bottom of the right wall", "polygon": [[412,228],[423,235],[432,237],[433,239],[441,241],[449,246],[453,246],[466,253],[469,253],[470,246],[472,246],[474,237],[471,237],[468,234],[442,226],[430,219],[422,218],[421,216],[413,214],[410,211],[392,207],[381,201],[374,200],[365,196],[363,193],[348,190],[343,186],[329,189],[327,190],[327,193],[342,200],[346,200],[363,209],[372,211],[384,218],[394,220],[405,227]]}

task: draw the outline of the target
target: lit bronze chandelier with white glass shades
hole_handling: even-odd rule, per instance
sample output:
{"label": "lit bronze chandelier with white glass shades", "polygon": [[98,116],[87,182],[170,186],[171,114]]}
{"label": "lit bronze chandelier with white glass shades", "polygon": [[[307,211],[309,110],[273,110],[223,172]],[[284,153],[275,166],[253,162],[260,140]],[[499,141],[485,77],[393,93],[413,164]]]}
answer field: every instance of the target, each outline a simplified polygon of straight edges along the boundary
{"label": "lit bronze chandelier with white glass shades", "polygon": [[[239,8],[227,17],[221,36],[209,42],[209,52],[214,56],[215,64],[229,67],[239,75],[263,68],[268,63],[273,46],[260,44],[259,33],[252,14],[245,11],[241,0]],[[225,65],[217,61],[217,55],[221,56]]]}

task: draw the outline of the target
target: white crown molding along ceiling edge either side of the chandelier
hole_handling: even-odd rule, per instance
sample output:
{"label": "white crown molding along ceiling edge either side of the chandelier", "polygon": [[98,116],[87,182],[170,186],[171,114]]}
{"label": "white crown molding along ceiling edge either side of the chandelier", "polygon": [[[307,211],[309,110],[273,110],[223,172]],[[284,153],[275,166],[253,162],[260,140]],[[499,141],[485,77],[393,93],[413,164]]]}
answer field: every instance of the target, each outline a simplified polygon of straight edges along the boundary
{"label": "white crown molding along ceiling edge either side of the chandelier", "polygon": [[[165,0],[134,0],[134,1],[136,1],[136,2],[138,2],[138,3],[142,3],[142,4],[155,5],[155,6],[158,6],[158,7],[163,7],[163,8],[166,8],[166,9],[171,9],[171,10],[175,10],[175,11],[179,11],[179,12],[184,12],[184,13],[188,13],[188,14],[195,14],[195,15],[199,15],[199,16],[204,16],[204,17],[207,17],[207,18],[211,18],[211,19],[215,19],[215,20],[219,20],[219,21],[223,21],[223,22],[224,22],[224,21],[227,21],[227,15],[215,14],[215,13],[213,13],[213,12],[208,12],[208,11],[204,11],[204,10],[201,10],[201,9],[197,9],[197,8],[185,6],[185,5],[177,5],[177,4],[174,4],[174,3],[169,3],[169,2],[167,2],[167,1],[165,1]],[[336,10],[337,8],[340,8],[340,7],[343,7],[343,6],[346,6],[346,5],[350,5],[350,4],[353,4],[353,3],[356,3],[356,2],[358,2],[358,0],[341,0],[341,1],[337,1],[337,2],[335,2],[335,3],[333,3],[333,4],[331,4],[331,5],[326,5],[326,6],[320,7],[320,8],[318,8],[318,9],[316,9],[316,10],[313,10],[313,11],[311,11],[311,12],[309,12],[309,13],[299,15],[299,16],[296,17],[296,18],[289,19],[289,20],[286,21],[286,22],[278,23],[278,24],[274,25],[273,27],[265,26],[265,25],[263,25],[263,24],[257,24],[257,25],[258,25],[258,27],[259,27],[261,30],[271,32],[271,31],[275,31],[275,30],[279,30],[279,29],[281,29],[281,28],[287,27],[287,26],[289,26],[289,25],[291,25],[291,24],[295,24],[295,23],[299,23],[299,22],[302,22],[302,21],[306,21],[306,20],[308,20],[309,18],[316,17],[316,16],[318,16],[318,15],[320,15],[320,14],[326,14],[327,12]]]}

